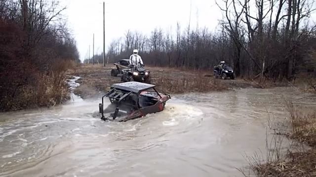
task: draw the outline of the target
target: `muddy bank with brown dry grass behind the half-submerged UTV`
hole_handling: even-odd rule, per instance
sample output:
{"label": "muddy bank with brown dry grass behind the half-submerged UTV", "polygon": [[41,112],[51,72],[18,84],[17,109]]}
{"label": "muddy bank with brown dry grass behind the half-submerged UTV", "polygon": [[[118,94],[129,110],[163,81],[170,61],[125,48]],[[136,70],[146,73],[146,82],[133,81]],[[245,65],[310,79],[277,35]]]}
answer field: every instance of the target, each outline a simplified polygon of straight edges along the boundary
{"label": "muddy bank with brown dry grass behind the half-submerged UTV", "polygon": [[[112,84],[120,82],[120,75],[111,76],[112,68],[115,68],[113,64],[108,64],[106,67],[98,64],[82,64],[76,68],[75,71],[69,73],[82,78],[77,81],[80,86],[75,90],[75,93],[87,99],[108,91]],[[146,67],[146,69],[151,71],[152,83],[157,85],[158,90],[171,94],[260,88],[260,86],[243,79],[214,80],[210,73],[205,71],[164,67]]]}

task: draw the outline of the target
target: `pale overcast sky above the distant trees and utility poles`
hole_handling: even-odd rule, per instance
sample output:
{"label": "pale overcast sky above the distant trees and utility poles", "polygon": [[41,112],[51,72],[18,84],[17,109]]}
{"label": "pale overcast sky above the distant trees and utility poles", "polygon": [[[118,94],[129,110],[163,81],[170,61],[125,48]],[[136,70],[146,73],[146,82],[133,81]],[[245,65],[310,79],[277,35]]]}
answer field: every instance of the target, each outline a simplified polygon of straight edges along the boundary
{"label": "pale overcast sky above the distant trees and utility poles", "polygon": [[[103,0],[62,0],[74,34],[80,59],[88,52],[92,56],[92,36],[95,33],[95,53],[103,50]],[[154,28],[175,31],[179,22],[184,28],[189,23],[190,0],[105,0],[106,50],[113,39],[122,37],[128,29],[150,34]],[[191,25],[214,30],[221,12],[214,0],[192,0]]]}

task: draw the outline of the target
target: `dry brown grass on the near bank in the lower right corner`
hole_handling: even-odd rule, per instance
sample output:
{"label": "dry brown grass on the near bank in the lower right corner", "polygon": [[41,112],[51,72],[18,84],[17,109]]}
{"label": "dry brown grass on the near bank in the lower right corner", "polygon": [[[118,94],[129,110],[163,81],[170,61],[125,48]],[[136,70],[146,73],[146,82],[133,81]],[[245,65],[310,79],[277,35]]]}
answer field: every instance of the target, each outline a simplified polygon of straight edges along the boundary
{"label": "dry brown grass on the near bank in the lower right corner", "polygon": [[[316,177],[316,111],[307,113],[306,109],[294,106],[292,102],[287,103],[287,108],[290,116],[290,132],[276,133],[278,138],[275,136],[270,142],[266,161],[262,161],[258,154],[247,157],[257,177]],[[269,127],[271,128],[270,125]],[[297,144],[291,145],[291,148],[288,147],[282,153],[280,137],[295,140]],[[311,149],[306,150],[304,144],[309,145]],[[250,176],[242,170],[239,171],[245,177]]]}

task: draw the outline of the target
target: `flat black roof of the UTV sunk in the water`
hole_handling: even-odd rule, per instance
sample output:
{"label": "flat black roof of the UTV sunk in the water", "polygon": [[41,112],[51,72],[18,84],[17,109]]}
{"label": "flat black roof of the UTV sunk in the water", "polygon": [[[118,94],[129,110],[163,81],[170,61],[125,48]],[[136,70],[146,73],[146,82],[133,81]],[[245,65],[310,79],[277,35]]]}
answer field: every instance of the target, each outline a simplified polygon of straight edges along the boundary
{"label": "flat black roof of the UTV sunk in the water", "polygon": [[151,89],[154,87],[156,86],[152,84],[140,83],[140,82],[135,82],[135,81],[113,84],[111,86],[112,89],[113,88],[122,89],[122,90],[132,91],[134,93],[139,93],[141,91]]}

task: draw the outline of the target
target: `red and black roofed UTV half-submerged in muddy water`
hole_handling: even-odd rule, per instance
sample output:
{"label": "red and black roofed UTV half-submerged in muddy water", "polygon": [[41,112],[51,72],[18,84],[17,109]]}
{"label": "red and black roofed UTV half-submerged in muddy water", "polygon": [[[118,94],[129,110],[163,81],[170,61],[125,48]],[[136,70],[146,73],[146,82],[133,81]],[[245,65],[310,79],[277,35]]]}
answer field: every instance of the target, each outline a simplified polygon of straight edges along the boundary
{"label": "red and black roofed UTV half-submerged in muddy water", "polygon": [[[102,120],[127,121],[147,114],[157,113],[164,109],[169,94],[159,93],[155,85],[140,82],[125,82],[111,86],[111,90],[102,97],[99,113]],[[104,97],[111,104],[104,109]],[[114,113],[113,113],[114,112]],[[110,114],[105,117],[104,114]]]}

